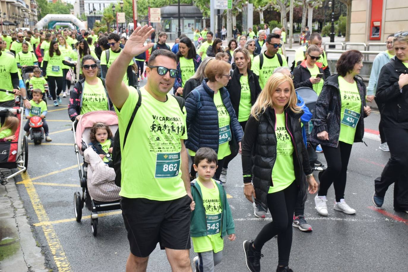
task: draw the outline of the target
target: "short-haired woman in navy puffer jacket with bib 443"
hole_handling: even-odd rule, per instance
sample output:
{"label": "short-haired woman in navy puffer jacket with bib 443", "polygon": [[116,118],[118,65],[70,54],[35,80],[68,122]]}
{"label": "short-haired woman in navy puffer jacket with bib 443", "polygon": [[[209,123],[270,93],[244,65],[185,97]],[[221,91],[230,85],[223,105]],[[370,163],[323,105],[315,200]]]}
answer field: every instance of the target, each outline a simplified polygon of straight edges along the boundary
{"label": "short-haired woman in navy puffer jacket with bib 443", "polygon": [[[241,140],[244,132],[238,122],[227,86],[231,75],[231,65],[223,60],[211,60],[204,69],[206,78],[186,97],[186,148],[194,161],[195,152],[201,147],[215,150],[218,168],[215,178],[221,175],[224,158],[231,154],[231,148],[238,147],[241,153]],[[190,179],[195,179],[193,166]]]}

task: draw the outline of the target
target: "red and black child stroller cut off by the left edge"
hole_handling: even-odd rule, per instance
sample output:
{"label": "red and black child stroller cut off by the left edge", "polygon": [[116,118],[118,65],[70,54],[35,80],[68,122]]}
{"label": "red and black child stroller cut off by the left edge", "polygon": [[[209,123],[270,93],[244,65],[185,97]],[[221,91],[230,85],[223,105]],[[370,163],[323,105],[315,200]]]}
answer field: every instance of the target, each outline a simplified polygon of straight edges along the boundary
{"label": "red and black child stroller cut off by the left edge", "polygon": [[[0,91],[5,90],[0,89]],[[0,168],[19,168],[19,170],[8,177],[1,177],[0,182],[2,185],[7,184],[12,177],[27,171],[28,166],[28,142],[23,130],[24,108],[0,107],[2,124],[4,123],[4,119],[9,115],[16,116],[20,120],[20,124],[16,130],[16,134],[14,134],[17,137],[15,142],[0,142],[1,150],[3,150],[2,153],[0,153]]]}

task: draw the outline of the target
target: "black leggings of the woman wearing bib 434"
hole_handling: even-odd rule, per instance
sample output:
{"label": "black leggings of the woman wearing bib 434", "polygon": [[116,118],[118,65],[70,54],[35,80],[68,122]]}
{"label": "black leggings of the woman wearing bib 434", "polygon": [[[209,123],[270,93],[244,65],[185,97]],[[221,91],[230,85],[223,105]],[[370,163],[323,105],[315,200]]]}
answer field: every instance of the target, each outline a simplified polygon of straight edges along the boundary
{"label": "black leggings of the woman wearing bib 434", "polygon": [[333,183],[336,201],[340,202],[340,199],[344,199],[347,166],[352,147],[352,144],[344,142],[339,142],[337,148],[322,145],[324,157],[327,161],[327,169],[319,175],[320,189],[317,195],[327,195],[327,190]]}

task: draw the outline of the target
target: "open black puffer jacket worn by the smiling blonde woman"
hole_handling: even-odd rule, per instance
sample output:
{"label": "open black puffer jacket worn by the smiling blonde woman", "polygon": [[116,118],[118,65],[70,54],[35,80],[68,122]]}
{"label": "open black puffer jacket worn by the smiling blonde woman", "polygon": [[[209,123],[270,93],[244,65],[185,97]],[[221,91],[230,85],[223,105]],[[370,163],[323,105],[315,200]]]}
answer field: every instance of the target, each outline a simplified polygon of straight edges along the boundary
{"label": "open black puffer jacket worn by the smiling blonde woman", "polygon": [[[286,130],[295,148],[293,166],[295,182],[299,186],[302,199],[306,197],[306,175],[312,172],[306,146],[303,142],[300,117],[303,114],[294,113],[289,108],[284,111]],[[268,208],[266,197],[269,187],[273,186],[272,169],[276,161],[275,110],[268,108],[259,115],[259,121],[252,115],[245,126],[242,142],[242,170],[244,183],[251,182],[255,188],[257,202],[262,202]]]}

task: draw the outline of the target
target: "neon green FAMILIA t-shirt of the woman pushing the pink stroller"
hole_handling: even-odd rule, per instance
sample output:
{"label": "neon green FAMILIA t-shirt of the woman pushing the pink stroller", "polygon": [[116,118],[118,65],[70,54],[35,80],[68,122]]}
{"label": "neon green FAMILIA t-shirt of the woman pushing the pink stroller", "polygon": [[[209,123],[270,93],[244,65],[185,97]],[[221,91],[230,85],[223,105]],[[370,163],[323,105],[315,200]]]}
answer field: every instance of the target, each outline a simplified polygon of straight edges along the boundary
{"label": "neon green FAMILIA t-shirt of the woman pushing the pink stroller", "polygon": [[108,97],[101,79],[95,85],[84,83],[81,115],[90,111],[109,111]]}

